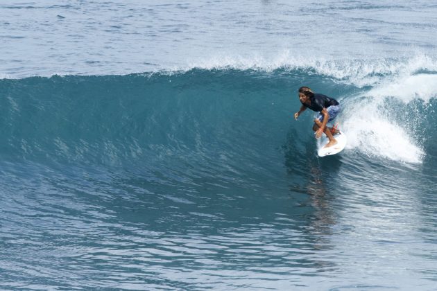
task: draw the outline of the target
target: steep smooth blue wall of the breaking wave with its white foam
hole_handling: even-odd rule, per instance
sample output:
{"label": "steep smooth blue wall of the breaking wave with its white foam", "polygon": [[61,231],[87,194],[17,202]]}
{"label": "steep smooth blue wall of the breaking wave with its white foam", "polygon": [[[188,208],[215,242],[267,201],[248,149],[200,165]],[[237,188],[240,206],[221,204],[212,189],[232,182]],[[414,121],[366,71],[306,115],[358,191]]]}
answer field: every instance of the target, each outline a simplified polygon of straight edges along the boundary
{"label": "steep smooth blue wall of the breaking wave with its white foam", "polygon": [[421,163],[435,136],[427,126],[435,123],[437,74],[430,66],[425,72],[411,65],[410,75],[400,67],[408,66],[393,64],[387,76],[381,68],[379,76],[369,70],[366,76],[378,80],[364,87],[323,66],[3,79],[0,155],[181,170],[219,164],[230,172],[281,163],[289,155],[282,152],[287,139],[297,148],[315,144],[312,115],[291,118],[300,107],[294,92],[305,84],[341,100],[339,121],[349,141],[344,155]]}

